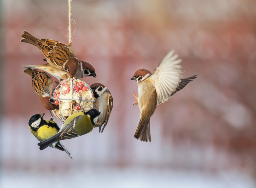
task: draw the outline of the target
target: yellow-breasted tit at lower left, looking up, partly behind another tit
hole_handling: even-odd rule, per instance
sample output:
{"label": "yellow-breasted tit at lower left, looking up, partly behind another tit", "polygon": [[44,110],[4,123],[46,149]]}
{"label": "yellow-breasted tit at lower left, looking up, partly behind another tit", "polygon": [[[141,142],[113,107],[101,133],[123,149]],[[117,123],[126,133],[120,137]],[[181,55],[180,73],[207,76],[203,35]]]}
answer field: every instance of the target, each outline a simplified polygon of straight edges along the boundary
{"label": "yellow-breasted tit at lower left, looking up, partly behind another tit", "polygon": [[[28,127],[30,128],[31,133],[42,142],[43,140],[55,135],[59,132],[60,128],[52,117],[50,120],[43,119],[44,114],[35,114],[28,121]],[[56,141],[50,145],[52,148],[59,149],[60,151],[65,151],[68,156],[72,159],[70,152],[62,144],[62,141]]]}

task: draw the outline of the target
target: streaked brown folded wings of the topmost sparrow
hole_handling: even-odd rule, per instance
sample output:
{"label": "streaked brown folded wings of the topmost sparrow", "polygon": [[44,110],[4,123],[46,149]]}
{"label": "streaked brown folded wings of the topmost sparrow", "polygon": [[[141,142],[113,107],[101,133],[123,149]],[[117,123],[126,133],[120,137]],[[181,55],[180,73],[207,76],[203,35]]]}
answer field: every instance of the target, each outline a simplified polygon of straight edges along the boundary
{"label": "streaked brown folded wings of the topmost sparrow", "polygon": [[62,68],[68,59],[76,57],[75,52],[66,44],[51,39],[41,39],[41,51],[48,58],[48,63],[53,67]]}

